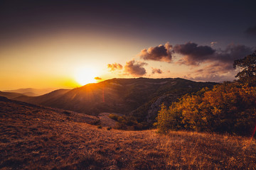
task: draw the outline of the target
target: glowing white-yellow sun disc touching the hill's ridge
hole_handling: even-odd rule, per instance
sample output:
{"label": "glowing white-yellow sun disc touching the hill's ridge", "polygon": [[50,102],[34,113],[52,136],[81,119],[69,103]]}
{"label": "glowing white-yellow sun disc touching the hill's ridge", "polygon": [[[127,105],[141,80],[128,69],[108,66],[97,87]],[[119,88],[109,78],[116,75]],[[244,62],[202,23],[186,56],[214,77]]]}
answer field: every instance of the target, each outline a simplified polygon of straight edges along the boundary
{"label": "glowing white-yellow sun disc touching the hill's ridge", "polygon": [[75,81],[77,81],[81,86],[84,86],[85,84],[96,83],[97,80],[95,77],[97,77],[97,72],[91,67],[80,68],[75,72]]}

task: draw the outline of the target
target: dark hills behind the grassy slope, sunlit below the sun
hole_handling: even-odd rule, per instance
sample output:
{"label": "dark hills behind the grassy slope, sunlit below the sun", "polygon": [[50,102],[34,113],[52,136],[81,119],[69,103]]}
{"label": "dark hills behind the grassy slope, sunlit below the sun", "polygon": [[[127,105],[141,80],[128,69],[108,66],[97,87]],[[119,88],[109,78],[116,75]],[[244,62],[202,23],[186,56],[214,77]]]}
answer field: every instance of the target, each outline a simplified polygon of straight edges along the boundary
{"label": "dark hills behind the grassy slope, sunlit below the sun", "polygon": [[150,122],[159,111],[161,103],[168,106],[184,94],[212,87],[213,82],[195,82],[186,79],[109,79],[97,84],[87,84],[75,89],[59,89],[42,96],[15,96],[3,94],[17,101],[24,101],[53,108],[61,108],[88,115],[122,113],[134,115]]}

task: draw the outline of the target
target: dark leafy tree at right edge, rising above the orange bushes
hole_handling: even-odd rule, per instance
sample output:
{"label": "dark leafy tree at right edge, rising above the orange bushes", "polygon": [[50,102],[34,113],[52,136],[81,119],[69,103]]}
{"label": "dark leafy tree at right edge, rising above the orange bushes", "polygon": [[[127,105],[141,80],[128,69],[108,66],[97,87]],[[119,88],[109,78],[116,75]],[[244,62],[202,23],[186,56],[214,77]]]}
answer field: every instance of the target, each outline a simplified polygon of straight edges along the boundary
{"label": "dark leafy tree at right edge, rising above the orange bushes", "polygon": [[256,51],[251,55],[235,60],[233,64],[234,69],[242,69],[235,77],[238,81],[248,86],[256,86]]}

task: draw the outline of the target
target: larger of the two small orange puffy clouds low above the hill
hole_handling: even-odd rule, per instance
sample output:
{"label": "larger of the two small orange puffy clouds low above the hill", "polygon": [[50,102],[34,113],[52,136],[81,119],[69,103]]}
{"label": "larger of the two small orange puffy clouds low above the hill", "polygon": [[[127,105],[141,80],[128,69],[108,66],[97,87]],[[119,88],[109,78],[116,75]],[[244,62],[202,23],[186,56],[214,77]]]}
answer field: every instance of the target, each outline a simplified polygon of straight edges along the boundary
{"label": "larger of the two small orange puffy clouds low above the hill", "polygon": [[143,76],[146,74],[146,69],[143,67],[144,65],[147,65],[146,62],[136,62],[135,60],[131,60],[124,66],[124,72],[132,74],[135,77]]}

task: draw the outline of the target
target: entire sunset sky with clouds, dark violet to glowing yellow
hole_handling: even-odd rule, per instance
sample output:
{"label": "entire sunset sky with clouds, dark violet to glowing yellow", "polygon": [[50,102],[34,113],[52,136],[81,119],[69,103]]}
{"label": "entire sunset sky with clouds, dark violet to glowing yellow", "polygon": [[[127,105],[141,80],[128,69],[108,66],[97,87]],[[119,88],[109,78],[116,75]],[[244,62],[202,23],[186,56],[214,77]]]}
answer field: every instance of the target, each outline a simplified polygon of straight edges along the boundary
{"label": "entire sunset sky with clouds, dark violet to glowing yellow", "polygon": [[256,1],[1,1],[0,90],[112,78],[232,81]]}

